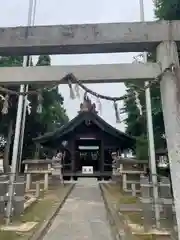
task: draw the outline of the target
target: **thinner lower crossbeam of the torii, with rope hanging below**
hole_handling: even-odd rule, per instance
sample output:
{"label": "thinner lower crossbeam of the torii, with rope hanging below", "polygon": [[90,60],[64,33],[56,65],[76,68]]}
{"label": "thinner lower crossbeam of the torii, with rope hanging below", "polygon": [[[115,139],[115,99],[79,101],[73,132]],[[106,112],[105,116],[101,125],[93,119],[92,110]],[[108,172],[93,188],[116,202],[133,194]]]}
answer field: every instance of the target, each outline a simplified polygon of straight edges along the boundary
{"label": "thinner lower crossbeam of the torii, with rope hanging below", "polygon": [[153,80],[161,69],[156,63],[3,67],[0,68],[0,84],[67,84],[64,77],[70,73],[81,83],[115,83]]}

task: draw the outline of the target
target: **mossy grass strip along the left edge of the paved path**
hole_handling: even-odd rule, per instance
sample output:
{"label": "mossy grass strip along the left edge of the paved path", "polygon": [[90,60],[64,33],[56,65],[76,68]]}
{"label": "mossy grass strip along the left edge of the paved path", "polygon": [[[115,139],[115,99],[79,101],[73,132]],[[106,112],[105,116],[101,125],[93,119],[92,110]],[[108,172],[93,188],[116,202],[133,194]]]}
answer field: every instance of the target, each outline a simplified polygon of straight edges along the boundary
{"label": "mossy grass strip along the left edge of the paved path", "polygon": [[65,187],[59,185],[53,187],[47,193],[41,195],[40,200],[34,203],[31,207],[25,211],[25,213],[13,219],[14,224],[25,223],[25,222],[38,222],[36,227],[28,233],[17,233],[11,231],[0,231],[0,239],[8,240],[28,240],[35,231],[37,231],[42,223],[47,219],[48,215],[51,214],[64,199],[67,192],[69,191],[70,184]]}

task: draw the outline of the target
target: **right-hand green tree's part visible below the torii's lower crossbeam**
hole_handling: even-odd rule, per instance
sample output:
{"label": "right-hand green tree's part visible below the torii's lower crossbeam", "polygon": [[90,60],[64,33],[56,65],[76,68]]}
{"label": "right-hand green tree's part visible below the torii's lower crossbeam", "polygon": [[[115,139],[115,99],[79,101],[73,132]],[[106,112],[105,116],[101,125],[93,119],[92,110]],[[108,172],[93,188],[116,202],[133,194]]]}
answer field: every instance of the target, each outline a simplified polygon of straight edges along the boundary
{"label": "right-hand green tree's part visible below the torii's lower crossbeam", "polygon": [[[146,117],[146,104],[145,104],[145,91],[132,84],[126,85],[126,95],[130,98],[124,101],[124,109],[127,113],[125,120],[126,133],[137,138],[138,144],[136,146],[136,153],[138,152],[139,159],[145,157],[148,158],[148,142],[147,142],[147,117]],[[142,86],[141,86],[142,88]],[[140,115],[139,108],[136,104],[135,92],[138,92],[140,104],[142,107],[142,115]],[[152,117],[153,117],[153,128],[154,128],[154,140],[156,149],[165,147],[164,136],[164,122],[161,108],[160,99],[160,87],[154,85],[151,87],[151,105],[152,105]],[[139,142],[140,141],[140,142]],[[140,157],[140,149],[143,142],[143,153]]]}

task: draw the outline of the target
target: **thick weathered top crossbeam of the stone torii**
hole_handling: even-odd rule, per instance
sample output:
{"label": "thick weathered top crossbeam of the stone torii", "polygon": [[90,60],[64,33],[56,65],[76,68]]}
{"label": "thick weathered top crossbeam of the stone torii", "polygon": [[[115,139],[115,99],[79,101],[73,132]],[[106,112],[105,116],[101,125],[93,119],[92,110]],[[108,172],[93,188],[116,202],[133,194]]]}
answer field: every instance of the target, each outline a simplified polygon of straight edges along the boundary
{"label": "thick weathered top crossbeam of the stone torii", "polygon": [[0,56],[152,51],[180,43],[178,21],[0,28]]}

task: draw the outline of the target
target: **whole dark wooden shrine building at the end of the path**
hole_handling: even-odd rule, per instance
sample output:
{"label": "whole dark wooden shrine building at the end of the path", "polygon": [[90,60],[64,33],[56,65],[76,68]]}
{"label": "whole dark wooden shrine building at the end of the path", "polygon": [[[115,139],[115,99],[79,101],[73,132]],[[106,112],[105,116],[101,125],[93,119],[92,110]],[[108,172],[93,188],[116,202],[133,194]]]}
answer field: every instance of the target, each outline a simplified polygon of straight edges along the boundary
{"label": "whole dark wooden shrine building at the end of the path", "polygon": [[[111,153],[132,149],[135,140],[105,122],[95,111],[95,105],[90,103],[87,107],[87,100],[80,109],[66,125],[35,141],[45,147],[65,151],[63,174],[66,179],[82,176],[110,178]],[[83,166],[92,166],[93,174],[83,174]]]}

